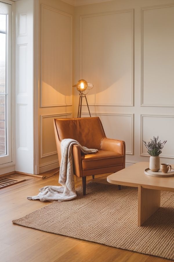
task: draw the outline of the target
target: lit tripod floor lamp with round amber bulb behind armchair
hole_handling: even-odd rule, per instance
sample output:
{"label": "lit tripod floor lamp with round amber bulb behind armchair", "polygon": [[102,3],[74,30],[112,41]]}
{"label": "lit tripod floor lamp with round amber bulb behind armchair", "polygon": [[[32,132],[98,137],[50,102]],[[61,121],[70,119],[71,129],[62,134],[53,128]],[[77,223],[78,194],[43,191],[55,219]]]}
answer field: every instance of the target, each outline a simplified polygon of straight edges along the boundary
{"label": "lit tripod floor lamp with round amber bulb behind armchair", "polygon": [[[89,106],[88,106],[88,101],[86,98],[86,95],[88,94],[89,90],[93,88],[93,84],[86,82],[86,80],[81,79],[77,82],[76,85],[73,85],[73,87],[76,87],[77,90],[79,91],[79,107],[78,107],[78,114],[77,118],[81,118],[81,106],[82,106],[82,98],[84,97],[86,100],[86,105],[88,107],[89,111]],[[91,117],[90,111],[89,115]]]}

